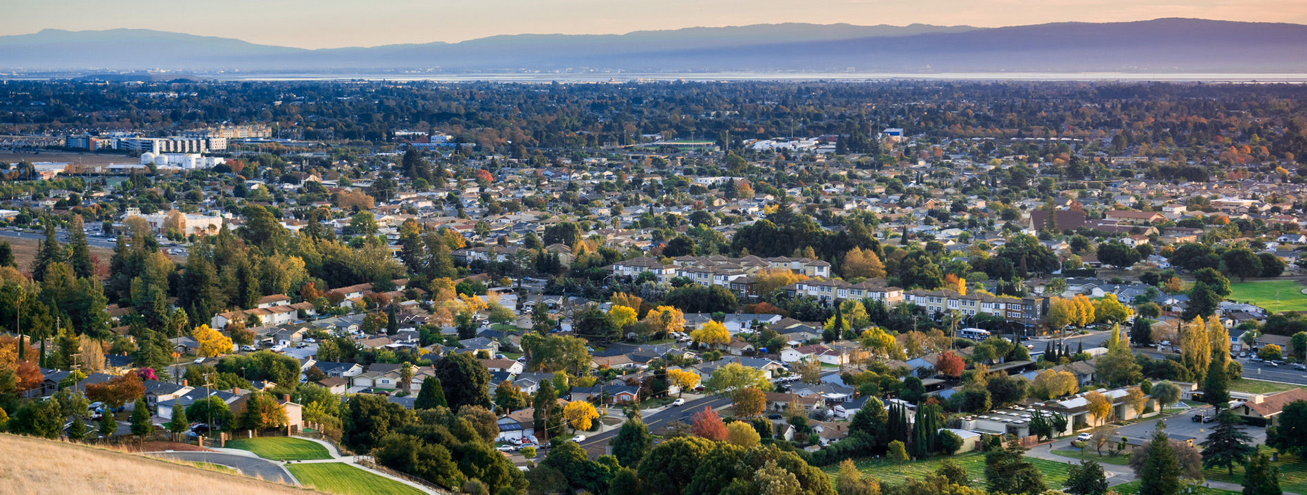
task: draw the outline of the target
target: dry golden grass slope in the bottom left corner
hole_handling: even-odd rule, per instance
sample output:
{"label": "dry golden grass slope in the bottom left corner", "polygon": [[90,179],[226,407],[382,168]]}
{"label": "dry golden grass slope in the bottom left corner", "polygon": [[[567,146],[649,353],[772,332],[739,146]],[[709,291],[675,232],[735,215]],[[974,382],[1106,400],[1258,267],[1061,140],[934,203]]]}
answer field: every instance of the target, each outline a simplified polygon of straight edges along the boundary
{"label": "dry golden grass slope in the bottom left corner", "polygon": [[316,491],[125,452],[0,435],[0,494],[307,495]]}

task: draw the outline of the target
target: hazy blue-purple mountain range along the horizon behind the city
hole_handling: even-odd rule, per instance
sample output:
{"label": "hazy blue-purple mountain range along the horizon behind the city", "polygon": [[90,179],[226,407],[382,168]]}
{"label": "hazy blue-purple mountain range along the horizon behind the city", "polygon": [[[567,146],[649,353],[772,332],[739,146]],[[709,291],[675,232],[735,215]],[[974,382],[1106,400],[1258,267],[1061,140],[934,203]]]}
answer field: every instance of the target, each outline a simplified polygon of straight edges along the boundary
{"label": "hazy blue-purple mountain range along the horizon behind the city", "polygon": [[1307,73],[1307,26],[1159,18],[1008,27],[778,24],[305,50],[144,29],[0,37],[0,71],[213,73]]}

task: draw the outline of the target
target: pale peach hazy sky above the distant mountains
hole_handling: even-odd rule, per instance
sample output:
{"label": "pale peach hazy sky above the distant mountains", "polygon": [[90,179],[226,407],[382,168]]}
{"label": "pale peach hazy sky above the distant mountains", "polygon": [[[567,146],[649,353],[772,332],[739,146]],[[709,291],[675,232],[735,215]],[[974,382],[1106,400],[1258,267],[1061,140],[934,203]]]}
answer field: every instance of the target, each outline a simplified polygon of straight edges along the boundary
{"label": "pale peach hazy sky above the distant mountains", "polygon": [[1010,26],[1201,17],[1307,24],[1303,0],[0,0],[0,35],[145,27],[303,48],[749,24]]}

